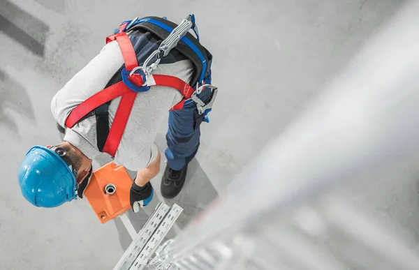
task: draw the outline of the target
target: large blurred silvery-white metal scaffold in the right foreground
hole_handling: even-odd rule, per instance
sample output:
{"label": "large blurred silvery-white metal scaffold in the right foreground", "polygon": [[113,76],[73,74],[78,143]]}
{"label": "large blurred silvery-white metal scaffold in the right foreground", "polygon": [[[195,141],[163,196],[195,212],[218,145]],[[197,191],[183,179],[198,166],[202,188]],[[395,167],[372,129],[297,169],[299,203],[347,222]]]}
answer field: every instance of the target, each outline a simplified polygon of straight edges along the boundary
{"label": "large blurred silvery-white metal scaffold in the right foreground", "polygon": [[148,269],[418,269],[417,250],[330,192],[418,156],[418,13],[401,10]]}

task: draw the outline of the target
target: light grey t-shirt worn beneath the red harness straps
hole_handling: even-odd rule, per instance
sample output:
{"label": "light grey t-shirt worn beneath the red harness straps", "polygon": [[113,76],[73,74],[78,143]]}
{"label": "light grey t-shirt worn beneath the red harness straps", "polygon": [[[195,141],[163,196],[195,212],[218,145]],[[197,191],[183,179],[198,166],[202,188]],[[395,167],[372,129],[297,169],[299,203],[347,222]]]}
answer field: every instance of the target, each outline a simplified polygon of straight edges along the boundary
{"label": "light grey t-shirt worn beneath the red harness straps", "polygon": [[[123,63],[124,59],[117,42],[113,41],[105,45],[100,54],[94,57],[52,98],[51,110],[57,123],[65,126],[71,110],[103,90]],[[172,75],[189,82],[193,75],[193,64],[189,60],[161,64],[154,74]],[[117,112],[120,99],[116,98],[110,104],[110,125]],[[154,86],[147,92],[138,93],[115,154],[114,163],[132,171],[147,167],[159,151],[154,138],[164,114],[168,113],[168,110],[180,100],[182,100],[182,94],[170,87]],[[73,128],[67,128],[64,140],[80,149],[88,158],[93,159],[100,153],[96,140],[96,117],[88,117]]]}

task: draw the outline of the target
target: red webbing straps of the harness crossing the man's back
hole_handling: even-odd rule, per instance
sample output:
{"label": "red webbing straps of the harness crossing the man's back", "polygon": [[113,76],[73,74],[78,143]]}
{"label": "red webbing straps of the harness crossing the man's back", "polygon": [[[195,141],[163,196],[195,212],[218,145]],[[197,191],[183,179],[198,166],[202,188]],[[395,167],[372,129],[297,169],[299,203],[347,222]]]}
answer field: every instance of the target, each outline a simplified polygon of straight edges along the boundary
{"label": "red webbing straps of the harness crossing the man's back", "polygon": [[[119,49],[122,52],[122,57],[124,57],[126,70],[131,71],[133,68],[137,67],[137,56],[135,54],[133,45],[131,44],[131,40],[128,38],[126,33],[118,33],[116,35],[109,36],[106,39],[107,43],[112,40],[117,40]],[[172,107],[170,110],[182,109],[184,101],[191,98],[193,88],[183,80],[168,75],[153,75],[153,77],[154,81],[156,82],[155,85],[175,88],[184,96],[182,101],[177,103],[177,105]],[[131,75],[131,77],[128,77],[128,80],[137,86],[144,84],[142,76],[136,73]],[[119,96],[122,96],[122,98],[119,102],[112,126],[110,127],[105,146],[103,147],[103,152],[110,154],[110,156],[115,156],[115,153],[117,153],[117,149],[119,147],[119,143],[121,142],[122,135],[124,135],[126,123],[128,122],[129,115],[131,114],[131,110],[135,102],[135,97],[137,96],[137,92],[128,88],[124,82],[118,82],[117,84],[99,91],[90,98],[87,98],[87,100],[84,100],[84,102],[75,107],[70,113],[66,119],[66,126],[68,128],[73,128],[73,126],[78,123],[78,121],[80,121],[80,119],[82,119],[85,115],[89,114],[89,112]]]}

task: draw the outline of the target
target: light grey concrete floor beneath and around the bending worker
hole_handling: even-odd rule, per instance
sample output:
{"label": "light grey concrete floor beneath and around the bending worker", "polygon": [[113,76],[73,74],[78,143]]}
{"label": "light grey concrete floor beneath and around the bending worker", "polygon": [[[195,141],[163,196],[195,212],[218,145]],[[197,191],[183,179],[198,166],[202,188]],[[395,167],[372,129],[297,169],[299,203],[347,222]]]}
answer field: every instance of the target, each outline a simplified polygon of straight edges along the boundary
{"label": "light grey concrete floor beneath and around the bending worker", "polygon": [[[219,97],[179,197],[176,229],[216,197],[265,144],[293,121],[325,82],[403,1],[120,1],[0,2],[0,269],[112,269],[130,239],[119,220],[96,220],[86,200],[36,209],[20,194],[17,168],[34,144],[57,144],[54,93],[101,50],[105,36],[135,16],[178,22],[195,13],[214,54]],[[156,142],[164,149],[166,123]],[[96,161],[99,166],[107,161]],[[164,167],[164,164],[161,165]],[[400,165],[342,191],[388,225],[418,239],[419,172]],[[152,181],[159,190],[160,176]],[[379,188],[377,188],[379,187]],[[155,205],[159,200],[156,197]],[[245,207],[245,206],[244,206]],[[153,207],[134,215],[137,230]],[[176,230],[171,233],[174,235]],[[409,237],[407,237],[409,238]]]}

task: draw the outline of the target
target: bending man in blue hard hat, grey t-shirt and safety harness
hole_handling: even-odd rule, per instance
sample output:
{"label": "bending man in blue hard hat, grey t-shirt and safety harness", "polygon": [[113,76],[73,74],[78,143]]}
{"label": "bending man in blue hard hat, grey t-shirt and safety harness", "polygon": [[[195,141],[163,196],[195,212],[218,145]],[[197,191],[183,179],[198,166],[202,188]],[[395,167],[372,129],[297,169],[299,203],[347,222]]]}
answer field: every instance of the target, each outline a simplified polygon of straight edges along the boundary
{"label": "bending man in blue hard hat, grey t-shirt and safety harness", "polygon": [[[173,41],[176,37],[182,40]],[[193,15],[179,26],[159,17],[123,22],[52,98],[64,142],[27,152],[18,172],[24,197],[36,207],[82,198],[92,160],[108,153],[116,165],[137,172],[130,201],[138,212],[154,194],[149,181],[159,174],[161,161],[154,138],[169,110],[161,194],[178,195],[216,94],[210,85],[212,55],[198,40]]]}

